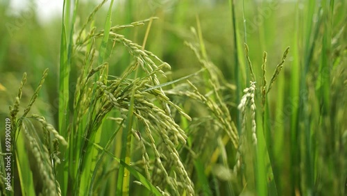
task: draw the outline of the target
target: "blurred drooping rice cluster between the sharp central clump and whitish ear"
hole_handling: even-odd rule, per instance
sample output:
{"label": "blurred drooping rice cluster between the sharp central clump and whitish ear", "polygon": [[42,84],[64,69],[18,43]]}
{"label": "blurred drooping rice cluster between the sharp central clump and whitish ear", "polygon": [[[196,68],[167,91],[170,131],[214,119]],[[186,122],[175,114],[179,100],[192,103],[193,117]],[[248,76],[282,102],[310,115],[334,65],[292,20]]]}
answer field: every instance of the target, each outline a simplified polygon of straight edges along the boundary
{"label": "blurred drooping rice cluster between the sharp central clump and whitish ear", "polygon": [[[200,31],[198,29],[198,31]],[[198,33],[192,28],[192,33],[195,35],[195,40],[199,39]],[[196,171],[196,168],[189,167],[189,173],[204,172],[207,176],[217,177],[223,181],[232,181],[232,172],[229,169],[227,151],[236,152],[239,146],[239,136],[234,121],[230,115],[230,101],[228,96],[230,92],[235,91],[235,86],[231,85],[224,79],[223,74],[204,54],[202,42],[185,42],[187,47],[191,49],[197,60],[200,63],[202,70],[196,73],[203,72],[200,77],[196,77],[175,88],[166,90],[168,95],[175,97],[185,97],[185,100],[196,105],[196,117],[189,124],[189,136],[191,138],[192,147],[186,158],[186,165],[197,164],[198,160],[208,160],[202,163],[205,167],[202,171]],[[226,149],[225,146],[231,145],[231,149]],[[223,163],[218,163],[219,158],[223,159]],[[219,169],[217,169],[219,168]],[[221,168],[225,169],[220,172]],[[212,174],[210,174],[212,172]],[[201,178],[201,176],[198,176]],[[199,179],[201,180],[201,179]],[[213,194],[212,191],[218,191],[216,181],[206,182],[200,191],[205,194]],[[213,190],[208,190],[206,187],[212,187]],[[208,191],[208,192],[205,192]]]}

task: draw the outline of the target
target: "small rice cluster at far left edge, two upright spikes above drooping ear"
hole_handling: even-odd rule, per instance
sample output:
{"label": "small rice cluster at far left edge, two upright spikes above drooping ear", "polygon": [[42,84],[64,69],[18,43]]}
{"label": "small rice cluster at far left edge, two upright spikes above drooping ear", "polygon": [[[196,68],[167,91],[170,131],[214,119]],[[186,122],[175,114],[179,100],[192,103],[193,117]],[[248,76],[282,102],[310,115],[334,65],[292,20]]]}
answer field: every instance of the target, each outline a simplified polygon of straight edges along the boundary
{"label": "small rice cluster at far left edge, two upright spikes above drooping ear", "polygon": [[[11,125],[13,130],[12,138],[17,139],[19,137],[19,131],[22,130],[22,134],[24,134],[27,142],[26,144],[24,144],[17,143],[15,142],[16,140],[13,140],[14,146],[12,147],[12,150],[14,152],[13,154],[16,154],[16,149],[18,148],[17,145],[28,145],[34,158],[34,160],[30,161],[35,161],[37,170],[39,170],[40,174],[39,181],[42,182],[42,190],[40,190],[40,194],[61,195],[60,185],[58,181],[56,181],[53,168],[56,164],[60,163],[60,159],[58,158],[58,155],[60,153],[58,144],[60,143],[66,146],[67,142],[62,136],[60,136],[58,131],[56,131],[56,129],[54,129],[51,124],[46,122],[44,117],[35,114],[27,116],[31,111],[31,107],[33,106],[35,100],[37,99],[40,89],[42,88],[42,84],[44,83],[44,79],[47,76],[47,72],[48,70],[44,70],[42,79],[40,80],[39,85],[37,86],[33,96],[31,97],[28,106],[26,106],[26,108],[24,109],[24,113],[19,118],[17,118],[17,115],[19,113],[20,100],[22,99],[22,90],[24,84],[26,83],[26,73],[24,73],[23,75],[22,83],[19,87],[19,91],[15,99],[15,104],[13,106],[10,106],[10,119],[12,122]],[[39,124],[35,124],[35,121]],[[42,139],[42,137],[40,136],[41,134],[38,128],[41,128],[44,131],[44,139]],[[51,134],[55,139],[51,139]],[[18,156],[23,155],[19,154]],[[30,165],[21,165],[21,163],[17,163],[17,165],[19,165],[19,173],[28,172],[26,171],[28,169],[32,170],[32,168],[30,168]],[[22,180],[21,183],[23,183]],[[25,185],[22,184],[22,186]]]}

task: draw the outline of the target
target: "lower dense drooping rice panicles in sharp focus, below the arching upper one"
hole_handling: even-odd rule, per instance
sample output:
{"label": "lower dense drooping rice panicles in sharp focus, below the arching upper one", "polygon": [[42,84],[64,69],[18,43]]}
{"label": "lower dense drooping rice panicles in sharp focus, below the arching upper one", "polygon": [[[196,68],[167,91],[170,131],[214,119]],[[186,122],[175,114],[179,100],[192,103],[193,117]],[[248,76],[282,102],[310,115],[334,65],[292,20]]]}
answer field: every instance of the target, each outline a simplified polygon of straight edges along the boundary
{"label": "lower dense drooping rice panicles in sharp focus, below the arching upper one", "polygon": [[[128,113],[130,106],[131,92],[132,90],[135,90],[135,95],[133,95],[135,98],[133,115],[135,115],[139,122],[142,122],[146,138],[149,138],[149,142],[146,143],[149,143],[151,149],[153,149],[155,155],[155,165],[158,165],[160,168],[158,174],[153,174],[155,177],[153,179],[153,183],[155,181],[162,183],[162,180],[164,179],[164,181],[166,181],[169,186],[171,186],[172,190],[175,190],[178,195],[178,190],[181,190],[182,188],[187,188],[189,192],[194,193],[192,182],[190,181],[187,172],[185,172],[183,163],[181,163],[179,154],[176,150],[176,145],[178,145],[179,142],[185,143],[187,136],[185,136],[185,132],[180,129],[180,126],[176,124],[174,119],[169,113],[167,113],[167,111],[164,111],[164,109],[156,106],[153,103],[153,101],[150,99],[150,95],[158,97],[158,100],[162,101],[162,105],[164,105],[165,108],[168,108],[168,106],[173,106],[185,117],[187,117],[187,119],[190,120],[190,117],[186,115],[182,109],[169,101],[169,98],[164,95],[161,90],[153,89],[144,91],[151,86],[149,85],[149,79],[131,80],[124,79],[124,77],[122,77],[121,79],[108,81],[108,85],[105,85],[101,81],[97,81],[96,83],[98,85],[98,89],[103,92],[105,99],[108,100],[104,101],[103,104],[111,104],[114,108],[121,111],[121,117],[124,119],[127,118],[126,113]],[[103,108],[108,108],[108,106],[104,106]],[[155,145],[153,134],[157,134],[165,143],[165,145],[163,145],[165,149],[162,149],[160,152]],[[137,131],[133,131],[133,136],[137,138],[142,149],[142,161],[144,161],[146,177],[151,179],[151,174],[149,172],[149,156],[144,145],[144,137],[141,136],[141,133]],[[173,168],[176,168],[176,172],[180,174],[179,177],[182,177],[182,183],[178,183],[175,178],[170,177],[167,172],[168,168],[164,167],[161,160],[163,158],[167,159],[168,156],[170,157],[170,160],[173,161]],[[164,176],[162,176],[162,174]],[[179,188],[178,184],[183,187]]]}

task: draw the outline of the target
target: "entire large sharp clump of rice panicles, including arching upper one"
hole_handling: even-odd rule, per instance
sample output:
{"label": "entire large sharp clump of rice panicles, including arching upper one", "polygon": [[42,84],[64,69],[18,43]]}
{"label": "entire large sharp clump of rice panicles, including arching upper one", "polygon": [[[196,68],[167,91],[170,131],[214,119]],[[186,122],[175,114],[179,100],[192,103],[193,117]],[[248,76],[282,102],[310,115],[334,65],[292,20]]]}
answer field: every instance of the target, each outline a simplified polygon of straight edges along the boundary
{"label": "entire large sharp clump of rice panicles, including arching upper one", "polygon": [[[75,122],[71,131],[77,134],[78,126],[84,126],[81,122],[85,122],[83,119],[88,115],[90,120],[87,120],[85,131],[82,134],[85,140],[90,140],[101,126],[103,119],[111,111],[117,111],[119,117],[108,116],[108,119],[114,119],[118,122],[128,121],[128,113],[132,111],[131,115],[144,127],[144,133],[142,133],[133,124],[130,124],[132,127],[130,131],[138,141],[134,144],[142,152],[143,163],[141,165],[143,165],[146,178],[163,195],[169,193],[182,195],[183,192],[194,195],[194,184],[189,178],[177,151],[177,146],[185,144],[187,136],[185,131],[176,124],[174,117],[171,116],[171,109],[174,108],[187,120],[191,120],[191,118],[179,106],[169,100],[158,80],[159,75],[165,76],[163,69],[170,68],[170,66],[150,51],[144,50],[139,44],[126,39],[124,35],[116,33],[119,29],[143,25],[143,22],[148,22],[151,19],[110,28],[109,42],[123,45],[128,53],[133,56],[133,62],[130,63],[121,76],[107,75],[111,63],[103,63],[93,68],[93,65],[96,64],[93,62],[94,56],[97,55],[95,40],[102,38],[104,32],[96,33],[94,32],[95,28],[92,28],[90,33],[85,36],[83,36],[83,33],[79,33],[74,50],[80,54],[85,53],[85,60],[83,62],[84,71],[81,72],[76,83],[74,99],[74,112],[76,115],[74,116]],[[112,52],[110,55],[112,55]],[[142,77],[137,77],[137,72],[140,72],[139,75],[142,75]],[[135,79],[131,79],[134,73]],[[133,108],[131,108],[132,105]],[[158,143],[164,143],[164,145],[159,148]],[[79,173],[82,172],[81,168],[83,168],[81,162],[85,159],[83,154],[88,150],[86,143],[82,146],[81,158],[79,158]],[[153,154],[154,157],[149,156],[149,154]],[[163,160],[165,163],[163,163]],[[167,162],[169,164],[166,164]],[[81,179],[81,176],[82,174],[78,174],[78,178]]]}

